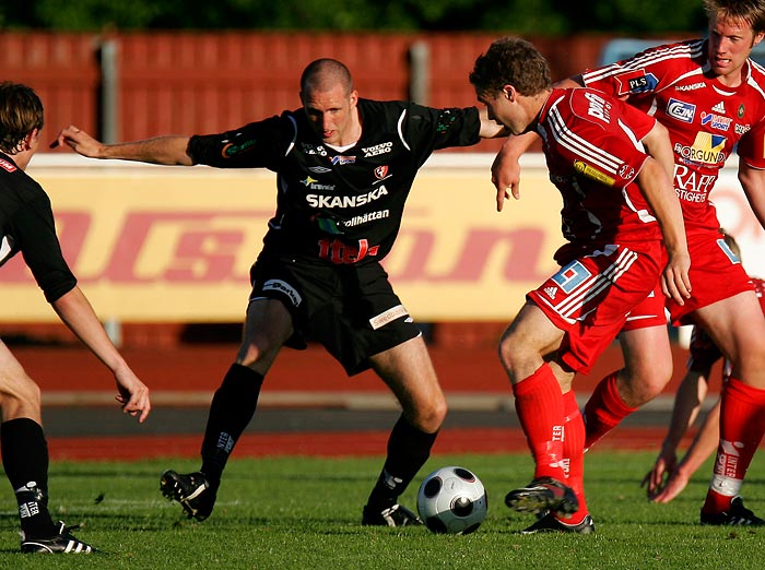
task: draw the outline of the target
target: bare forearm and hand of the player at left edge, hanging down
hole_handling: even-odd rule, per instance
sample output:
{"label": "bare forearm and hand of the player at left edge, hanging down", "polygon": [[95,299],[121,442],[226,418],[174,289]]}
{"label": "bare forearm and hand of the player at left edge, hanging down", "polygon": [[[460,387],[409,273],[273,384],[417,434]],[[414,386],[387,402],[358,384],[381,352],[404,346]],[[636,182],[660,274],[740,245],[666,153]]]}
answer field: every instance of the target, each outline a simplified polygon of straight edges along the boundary
{"label": "bare forearm and hand of the player at left edge, hanging down", "polygon": [[146,419],[151,411],[149,389],[130,370],[111,343],[80,287],[75,286],[52,301],[51,306],[61,321],[111,370],[119,392],[116,399],[122,411],[138,417],[140,423]]}

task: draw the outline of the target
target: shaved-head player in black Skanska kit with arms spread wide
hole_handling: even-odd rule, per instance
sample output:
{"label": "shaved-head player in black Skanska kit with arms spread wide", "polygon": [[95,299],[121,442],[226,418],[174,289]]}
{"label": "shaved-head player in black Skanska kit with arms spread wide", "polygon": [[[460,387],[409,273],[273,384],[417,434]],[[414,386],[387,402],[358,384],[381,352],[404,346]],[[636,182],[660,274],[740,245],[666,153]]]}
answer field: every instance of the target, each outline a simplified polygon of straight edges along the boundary
{"label": "shaved-head player in black Skanska kit with arms spread wide", "polygon": [[398,497],[427,460],[447,406],[421,331],[380,260],[393,245],[414,177],[431,153],[505,131],[474,107],[358,98],[348,68],[332,59],[305,69],[301,100],[302,109],[221,134],[105,145],[68,127],[54,144],[95,158],[263,167],[278,174],[276,212],[250,271],[242,346],[210,407],[202,466],[188,475],[165,472],[162,492],[190,518],[207,519],[280,348],[316,340],[349,375],[373,368],[403,409],[362,524],[417,524]]}

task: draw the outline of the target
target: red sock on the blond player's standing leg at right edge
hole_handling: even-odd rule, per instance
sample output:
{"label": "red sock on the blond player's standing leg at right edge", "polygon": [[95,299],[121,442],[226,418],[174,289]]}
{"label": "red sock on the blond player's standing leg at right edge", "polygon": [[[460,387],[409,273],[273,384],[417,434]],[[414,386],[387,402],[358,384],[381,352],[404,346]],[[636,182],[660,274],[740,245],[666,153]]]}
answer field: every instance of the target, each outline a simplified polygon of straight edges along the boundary
{"label": "red sock on the blond player's standing leg at right edge", "polygon": [[722,387],[720,443],[715,471],[702,508],[705,513],[727,511],[739,495],[746,470],[765,434],[765,390],[730,378]]}

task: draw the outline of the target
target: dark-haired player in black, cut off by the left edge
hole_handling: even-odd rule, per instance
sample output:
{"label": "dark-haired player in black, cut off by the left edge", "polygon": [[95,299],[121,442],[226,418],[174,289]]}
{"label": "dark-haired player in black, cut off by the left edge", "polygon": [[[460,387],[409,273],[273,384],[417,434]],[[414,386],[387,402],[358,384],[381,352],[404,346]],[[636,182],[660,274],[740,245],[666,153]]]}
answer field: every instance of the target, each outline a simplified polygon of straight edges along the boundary
{"label": "dark-haired player in black, cut off by the left edge", "polygon": [[[39,146],[43,104],[30,87],[0,83],[0,265],[21,252],[45,298],[117,381],[122,409],[143,421],[149,390],[128,368],[61,256],[50,200],[26,166]],[[48,446],[39,387],[0,341],[2,466],[19,503],[24,553],[91,553],[48,512]]]}

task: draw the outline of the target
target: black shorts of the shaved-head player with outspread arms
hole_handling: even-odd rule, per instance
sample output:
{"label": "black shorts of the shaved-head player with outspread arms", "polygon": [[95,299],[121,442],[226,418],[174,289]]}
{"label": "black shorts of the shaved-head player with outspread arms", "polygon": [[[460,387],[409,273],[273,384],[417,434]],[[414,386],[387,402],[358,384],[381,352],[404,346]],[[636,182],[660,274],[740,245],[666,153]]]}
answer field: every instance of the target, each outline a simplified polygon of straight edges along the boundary
{"label": "black shorts of the shaved-head player with outspread arms", "polygon": [[250,301],[279,299],[292,314],[287,346],[319,342],[349,376],[368,369],[369,356],[421,333],[377,262],[331,265],[261,256],[250,282]]}

